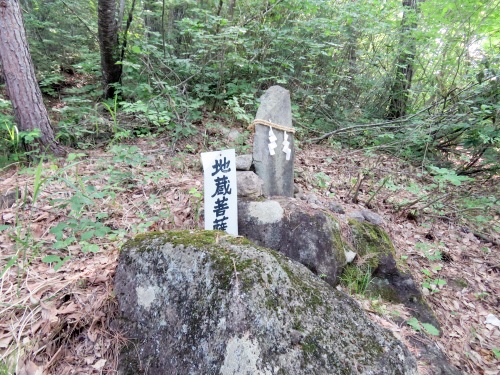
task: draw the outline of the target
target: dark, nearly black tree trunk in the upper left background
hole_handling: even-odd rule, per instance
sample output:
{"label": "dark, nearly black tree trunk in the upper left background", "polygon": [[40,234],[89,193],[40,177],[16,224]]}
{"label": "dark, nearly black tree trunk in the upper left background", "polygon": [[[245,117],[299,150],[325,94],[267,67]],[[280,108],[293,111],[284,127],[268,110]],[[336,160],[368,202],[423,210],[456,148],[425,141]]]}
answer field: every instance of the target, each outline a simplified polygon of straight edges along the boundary
{"label": "dark, nearly black tree trunk in the upper left background", "polygon": [[116,20],[116,0],[99,0],[97,8],[97,28],[101,50],[102,83],[104,98],[115,96],[115,86],[121,82],[122,65]]}

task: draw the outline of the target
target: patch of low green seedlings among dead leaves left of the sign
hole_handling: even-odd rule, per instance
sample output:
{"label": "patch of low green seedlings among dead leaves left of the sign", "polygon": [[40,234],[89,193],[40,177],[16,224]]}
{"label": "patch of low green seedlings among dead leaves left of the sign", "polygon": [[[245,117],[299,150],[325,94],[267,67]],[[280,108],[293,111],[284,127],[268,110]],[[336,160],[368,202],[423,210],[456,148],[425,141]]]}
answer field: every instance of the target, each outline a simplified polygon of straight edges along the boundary
{"label": "patch of low green seedlings among dead leaves left of the sign", "polygon": [[[156,210],[162,198],[150,194],[136,211],[139,222],[128,227],[115,224],[115,207],[125,190],[142,189],[168,178],[168,171],[143,169],[148,162],[136,146],[113,145],[109,155],[95,164],[85,153],[72,153],[65,161],[40,161],[21,169],[19,173],[27,175],[32,186],[17,187],[22,199],[16,202],[15,220],[0,226],[15,246],[2,275],[16,265],[25,271],[38,257],[57,271],[80,252],[112,249],[156,222],[171,220],[168,205]],[[93,173],[86,173],[89,168]],[[33,220],[44,213],[64,218],[48,229],[53,239],[40,240],[34,233]]]}

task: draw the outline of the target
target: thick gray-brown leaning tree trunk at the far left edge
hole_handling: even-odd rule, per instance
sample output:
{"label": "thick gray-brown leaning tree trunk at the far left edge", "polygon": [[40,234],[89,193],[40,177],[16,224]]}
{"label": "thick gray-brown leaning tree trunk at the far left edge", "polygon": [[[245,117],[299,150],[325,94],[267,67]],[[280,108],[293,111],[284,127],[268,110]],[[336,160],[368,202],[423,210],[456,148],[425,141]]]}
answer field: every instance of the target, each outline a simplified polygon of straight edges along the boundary
{"label": "thick gray-brown leaning tree trunk at the far left edge", "polygon": [[[19,131],[40,129],[40,151],[64,155],[56,142],[31,61],[18,0],[0,2],[0,61]],[[34,150],[33,145],[25,145]]]}

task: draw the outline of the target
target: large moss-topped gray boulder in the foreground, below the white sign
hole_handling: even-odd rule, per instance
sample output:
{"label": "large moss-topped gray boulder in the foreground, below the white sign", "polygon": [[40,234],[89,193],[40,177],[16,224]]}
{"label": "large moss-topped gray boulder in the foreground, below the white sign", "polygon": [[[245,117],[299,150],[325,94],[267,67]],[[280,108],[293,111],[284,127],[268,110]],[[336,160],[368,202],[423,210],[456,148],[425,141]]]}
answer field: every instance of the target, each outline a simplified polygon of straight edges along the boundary
{"label": "large moss-topped gray boulder in the foreground, below the white sign", "polygon": [[128,242],[115,291],[132,339],[119,374],[417,374],[408,349],[348,296],[221,232]]}

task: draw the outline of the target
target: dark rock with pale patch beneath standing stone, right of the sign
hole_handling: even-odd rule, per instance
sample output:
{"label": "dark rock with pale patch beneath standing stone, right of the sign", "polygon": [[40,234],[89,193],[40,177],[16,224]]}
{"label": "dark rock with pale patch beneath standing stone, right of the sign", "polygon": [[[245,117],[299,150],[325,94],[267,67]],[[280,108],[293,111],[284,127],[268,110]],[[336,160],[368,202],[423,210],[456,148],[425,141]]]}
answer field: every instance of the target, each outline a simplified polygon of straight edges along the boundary
{"label": "dark rock with pale patch beneath standing stone, right of the sign", "polygon": [[285,197],[240,199],[238,231],[256,244],[277,250],[335,285],[350,246],[328,212]]}

